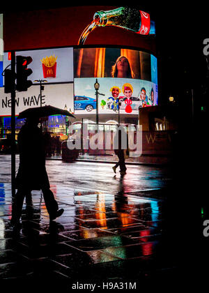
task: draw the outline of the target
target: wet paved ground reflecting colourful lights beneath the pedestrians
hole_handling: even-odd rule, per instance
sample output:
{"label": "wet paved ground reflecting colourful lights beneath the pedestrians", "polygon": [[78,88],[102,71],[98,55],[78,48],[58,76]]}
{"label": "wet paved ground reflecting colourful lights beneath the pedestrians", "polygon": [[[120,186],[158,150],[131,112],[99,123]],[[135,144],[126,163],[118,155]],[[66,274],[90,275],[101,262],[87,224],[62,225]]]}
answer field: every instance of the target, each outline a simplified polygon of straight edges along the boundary
{"label": "wet paved ground reflecting colourful lights beneath the pedestrians", "polygon": [[22,226],[13,230],[10,156],[0,156],[0,163],[0,280],[8,286],[136,292],[182,276],[178,219],[171,220],[173,179],[166,167],[128,165],[121,179],[111,164],[47,160],[51,189],[65,211],[49,223],[42,195],[34,190],[33,205],[24,203]]}

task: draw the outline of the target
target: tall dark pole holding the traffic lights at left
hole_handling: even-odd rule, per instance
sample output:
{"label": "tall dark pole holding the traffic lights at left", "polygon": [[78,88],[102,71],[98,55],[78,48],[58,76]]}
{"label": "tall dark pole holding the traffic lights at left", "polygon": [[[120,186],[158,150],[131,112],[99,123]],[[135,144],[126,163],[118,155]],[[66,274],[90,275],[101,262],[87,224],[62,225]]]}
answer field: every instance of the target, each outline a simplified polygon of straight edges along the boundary
{"label": "tall dark pole holding the traffic lights at left", "polygon": [[11,90],[11,183],[12,196],[15,197],[15,52],[11,52],[12,90]]}

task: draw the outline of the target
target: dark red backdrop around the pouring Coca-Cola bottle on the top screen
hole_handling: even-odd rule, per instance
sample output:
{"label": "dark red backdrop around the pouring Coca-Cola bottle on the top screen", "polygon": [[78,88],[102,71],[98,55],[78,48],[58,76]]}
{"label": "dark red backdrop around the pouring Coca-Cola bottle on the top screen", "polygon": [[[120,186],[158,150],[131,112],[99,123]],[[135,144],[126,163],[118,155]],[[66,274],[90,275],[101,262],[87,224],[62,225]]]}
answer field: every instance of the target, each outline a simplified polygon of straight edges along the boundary
{"label": "dark red backdrop around the pouring Coca-Cola bottle on the top screen", "polygon": [[[86,27],[93,21],[95,13],[114,10],[123,6],[69,6],[21,13],[7,13],[4,16],[5,50],[31,50],[47,47],[75,47]],[[150,21],[155,22],[154,15]],[[34,30],[36,23],[36,30]],[[15,34],[13,33],[15,31]],[[33,32],[33,38],[31,38]],[[127,44],[128,40],[128,44]],[[141,35],[115,25],[100,26],[88,35],[84,45],[114,45],[119,47],[141,47],[156,51],[155,34]]]}

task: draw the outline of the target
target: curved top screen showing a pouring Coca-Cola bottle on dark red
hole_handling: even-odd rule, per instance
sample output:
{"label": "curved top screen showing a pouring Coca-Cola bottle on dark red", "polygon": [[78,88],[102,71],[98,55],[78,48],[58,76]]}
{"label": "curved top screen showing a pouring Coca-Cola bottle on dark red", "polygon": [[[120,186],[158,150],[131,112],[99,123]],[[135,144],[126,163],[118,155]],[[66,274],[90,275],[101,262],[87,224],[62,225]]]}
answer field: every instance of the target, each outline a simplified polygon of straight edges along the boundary
{"label": "curved top screen showing a pouring Coca-Cola bottle on dark red", "polygon": [[72,6],[38,10],[38,13],[22,11],[21,15],[7,13],[4,22],[6,51],[113,45],[156,52],[153,15],[127,6]]}

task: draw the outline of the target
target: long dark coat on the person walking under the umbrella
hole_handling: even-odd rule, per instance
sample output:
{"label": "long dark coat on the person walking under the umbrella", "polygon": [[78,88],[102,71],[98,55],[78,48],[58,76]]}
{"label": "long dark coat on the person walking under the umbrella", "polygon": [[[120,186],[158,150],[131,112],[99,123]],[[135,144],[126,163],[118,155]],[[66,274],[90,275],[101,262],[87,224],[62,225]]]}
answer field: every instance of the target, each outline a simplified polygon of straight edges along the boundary
{"label": "long dark coat on the person walking under the umbrella", "polygon": [[15,180],[15,188],[40,190],[49,188],[45,168],[45,145],[42,132],[37,126],[22,126],[18,135],[20,166]]}

